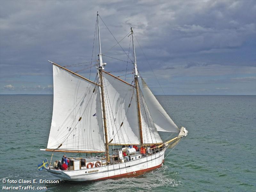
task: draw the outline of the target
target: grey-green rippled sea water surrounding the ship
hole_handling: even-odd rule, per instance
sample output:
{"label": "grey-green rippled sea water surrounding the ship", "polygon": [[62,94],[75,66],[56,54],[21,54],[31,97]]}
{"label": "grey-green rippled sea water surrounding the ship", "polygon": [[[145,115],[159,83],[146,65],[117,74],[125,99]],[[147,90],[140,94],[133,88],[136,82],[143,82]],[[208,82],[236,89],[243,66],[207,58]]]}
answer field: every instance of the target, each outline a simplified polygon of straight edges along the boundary
{"label": "grey-green rippled sea water surrounding the ship", "polygon": [[[53,96],[1,95],[0,191],[28,185],[60,192],[256,191],[256,96],[156,97],[188,130],[178,146],[166,150],[162,167],[135,178],[40,184],[40,179],[57,179],[37,170],[37,164],[51,159],[51,152],[39,149],[47,146]],[[52,161],[62,155],[55,152]],[[8,179],[18,183],[4,184]],[[38,183],[19,183],[22,179]]]}

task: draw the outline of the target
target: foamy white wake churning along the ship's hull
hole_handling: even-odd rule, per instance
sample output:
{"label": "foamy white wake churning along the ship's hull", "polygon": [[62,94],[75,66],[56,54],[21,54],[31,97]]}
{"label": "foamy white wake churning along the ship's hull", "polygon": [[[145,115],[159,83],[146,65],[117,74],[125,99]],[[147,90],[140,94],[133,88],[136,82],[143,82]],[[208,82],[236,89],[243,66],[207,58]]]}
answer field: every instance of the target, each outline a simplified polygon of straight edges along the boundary
{"label": "foamy white wake churning along the ship's hull", "polygon": [[96,182],[68,182],[63,181],[58,187],[52,187],[50,191],[62,191],[67,188],[72,188],[74,191],[113,191],[119,192],[135,192],[135,191],[169,191],[172,187],[181,186],[181,181],[172,179],[172,176],[177,173],[170,174],[170,168],[163,165],[159,169],[147,172],[138,177],[109,179]]}

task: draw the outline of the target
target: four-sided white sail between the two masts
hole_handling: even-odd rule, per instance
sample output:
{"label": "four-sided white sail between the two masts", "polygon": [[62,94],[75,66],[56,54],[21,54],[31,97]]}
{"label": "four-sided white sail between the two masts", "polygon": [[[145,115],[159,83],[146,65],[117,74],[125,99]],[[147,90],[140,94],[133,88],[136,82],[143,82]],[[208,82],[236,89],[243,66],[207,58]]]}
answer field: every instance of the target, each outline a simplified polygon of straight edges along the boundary
{"label": "four-sided white sail between the two masts", "polygon": [[140,144],[134,87],[106,72],[103,75],[108,141],[113,139],[111,144]]}

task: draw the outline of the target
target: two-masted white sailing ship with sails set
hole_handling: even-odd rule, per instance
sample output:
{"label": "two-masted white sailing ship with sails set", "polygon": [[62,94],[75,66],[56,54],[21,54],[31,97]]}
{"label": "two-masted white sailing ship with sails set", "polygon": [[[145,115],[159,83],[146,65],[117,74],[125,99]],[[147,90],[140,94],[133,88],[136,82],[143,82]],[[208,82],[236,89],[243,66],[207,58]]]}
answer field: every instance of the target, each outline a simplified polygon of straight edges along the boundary
{"label": "two-masted white sailing ship with sails set", "polygon": [[[98,12],[96,22],[99,55],[95,81],[49,61],[53,66],[52,124],[47,148],[40,150],[51,151],[52,155],[86,153],[84,158],[69,157],[68,170],[46,168],[63,180],[94,181],[144,174],[161,167],[167,148],[176,146],[188,133],[184,127],[177,127],[143,79],[140,84],[132,28],[132,84],[104,70]],[[159,132],[171,132],[175,137],[163,141]],[[133,146],[144,146],[146,154]],[[124,158],[123,150],[129,158]]]}

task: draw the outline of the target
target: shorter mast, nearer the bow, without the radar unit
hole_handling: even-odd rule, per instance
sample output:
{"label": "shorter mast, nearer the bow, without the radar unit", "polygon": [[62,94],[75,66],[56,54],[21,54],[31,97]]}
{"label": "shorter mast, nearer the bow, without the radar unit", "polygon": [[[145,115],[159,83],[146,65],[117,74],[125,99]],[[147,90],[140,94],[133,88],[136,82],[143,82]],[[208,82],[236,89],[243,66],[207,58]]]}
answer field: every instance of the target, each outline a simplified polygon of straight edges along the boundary
{"label": "shorter mast, nearer the bow, without the radar unit", "polygon": [[136,97],[137,97],[137,109],[138,109],[138,120],[139,120],[139,128],[140,128],[140,144],[143,144],[143,135],[142,135],[142,124],[141,124],[141,111],[140,111],[140,92],[139,92],[139,81],[138,81],[138,69],[137,69],[137,62],[136,62],[136,55],[135,55],[135,48],[133,42],[133,31],[132,32],[132,47],[133,47],[133,56],[134,56],[134,82],[135,82],[135,89],[136,89]]}

